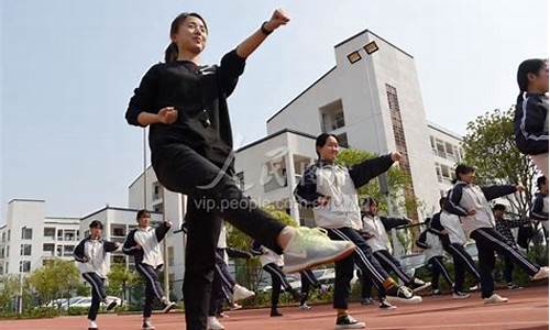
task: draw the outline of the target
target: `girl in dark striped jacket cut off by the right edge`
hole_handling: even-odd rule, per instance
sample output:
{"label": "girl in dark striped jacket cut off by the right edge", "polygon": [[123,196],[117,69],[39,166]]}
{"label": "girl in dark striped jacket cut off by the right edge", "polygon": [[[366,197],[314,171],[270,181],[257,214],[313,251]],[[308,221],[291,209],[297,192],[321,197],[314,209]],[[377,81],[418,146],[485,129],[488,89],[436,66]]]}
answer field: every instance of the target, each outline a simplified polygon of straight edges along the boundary
{"label": "girl in dark striped jacket cut off by the right edge", "polygon": [[524,61],[518,67],[517,84],[516,145],[548,176],[548,59]]}

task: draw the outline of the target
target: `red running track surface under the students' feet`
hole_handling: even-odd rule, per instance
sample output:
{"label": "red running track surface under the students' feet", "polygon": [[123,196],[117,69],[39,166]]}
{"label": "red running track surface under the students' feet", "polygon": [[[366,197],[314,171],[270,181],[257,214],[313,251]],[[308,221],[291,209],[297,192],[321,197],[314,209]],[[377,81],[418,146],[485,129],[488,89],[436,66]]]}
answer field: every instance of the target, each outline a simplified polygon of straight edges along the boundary
{"label": "red running track surface under the students' feet", "polygon": [[[510,298],[508,304],[485,306],[479,293],[464,300],[451,299],[449,295],[425,297],[419,305],[399,305],[394,311],[381,311],[376,306],[364,307],[353,304],[353,317],[366,322],[366,329],[549,329],[548,286],[520,290],[501,290]],[[297,307],[282,308],[285,315],[270,318],[267,309],[240,310],[229,312],[222,319],[228,330],[324,330],[334,329],[334,312],[328,305],[314,306],[309,311]],[[182,314],[154,315],[157,330],[183,330]],[[100,315],[100,330],[139,330],[140,316]],[[81,317],[62,317],[40,320],[0,321],[1,330],[59,330],[87,329],[87,320]]]}

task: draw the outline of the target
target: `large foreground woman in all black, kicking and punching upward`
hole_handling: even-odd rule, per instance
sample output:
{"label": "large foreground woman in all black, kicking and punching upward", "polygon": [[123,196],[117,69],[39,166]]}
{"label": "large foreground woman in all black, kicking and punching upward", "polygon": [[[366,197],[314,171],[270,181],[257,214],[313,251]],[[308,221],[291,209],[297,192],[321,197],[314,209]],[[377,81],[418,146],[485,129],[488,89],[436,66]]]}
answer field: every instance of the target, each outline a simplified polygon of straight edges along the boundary
{"label": "large foreground woman in all black, kicking and punching upward", "polygon": [[[221,219],[287,258],[290,271],[331,262],[353,245],[331,242],[308,229],[279,223],[246,198],[232,179],[232,132],[228,97],[245,59],[280,25],[280,10],[262,24],[219,66],[200,65],[208,29],[197,13],[183,13],[170,25],[165,63],[152,66],[130,100],[130,124],[150,125],[151,163],[161,184],[188,197],[184,300],[188,329],[206,329]],[[312,243],[314,242],[314,243]],[[298,257],[300,256],[300,257]]]}

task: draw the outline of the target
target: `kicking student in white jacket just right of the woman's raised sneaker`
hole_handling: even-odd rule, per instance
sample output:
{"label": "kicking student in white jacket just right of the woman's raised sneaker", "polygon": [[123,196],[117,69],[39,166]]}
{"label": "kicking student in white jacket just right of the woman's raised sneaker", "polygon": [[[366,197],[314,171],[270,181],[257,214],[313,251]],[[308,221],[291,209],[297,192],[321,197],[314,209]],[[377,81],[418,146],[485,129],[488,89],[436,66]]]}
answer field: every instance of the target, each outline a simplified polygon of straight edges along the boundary
{"label": "kicking student in white jacket just right of the woman's raised sneaker", "polygon": [[361,237],[361,210],[356,189],[385,173],[402,155],[397,152],[346,168],[337,164],[338,136],[320,134],[316,140],[317,162],[304,173],[294,195],[302,207],[314,209],[316,224],[334,241],[353,242],[354,253],[336,262],[333,308],[337,310],[337,329],[361,329],[365,327],[348,312],[354,264],[363,274],[369,274],[378,293],[388,299],[420,302],[422,299],[399,286],[373,256],[371,248]]}

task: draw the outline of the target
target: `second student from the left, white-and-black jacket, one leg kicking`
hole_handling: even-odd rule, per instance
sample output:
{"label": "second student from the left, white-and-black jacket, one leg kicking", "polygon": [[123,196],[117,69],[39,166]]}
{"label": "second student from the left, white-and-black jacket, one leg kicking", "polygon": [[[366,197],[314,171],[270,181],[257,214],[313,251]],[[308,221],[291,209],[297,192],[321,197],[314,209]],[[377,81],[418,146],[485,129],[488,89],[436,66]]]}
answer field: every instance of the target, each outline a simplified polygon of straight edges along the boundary
{"label": "second student from the left, white-and-black jacket, one leg kicking", "polygon": [[168,312],[176,304],[169,301],[161,286],[157,271],[164,265],[161,242],[169,231],[172,223],[164,222],[152,228],[151,215],[141,210],[136,215],[138,228],[130,231],[122,246],[122,252],[133,255],[135,270],[145,282],[145,301],[143,305],[143,330],[155,329],[151,324],[153,300],[156,298],[164,305],[163,312]]}

